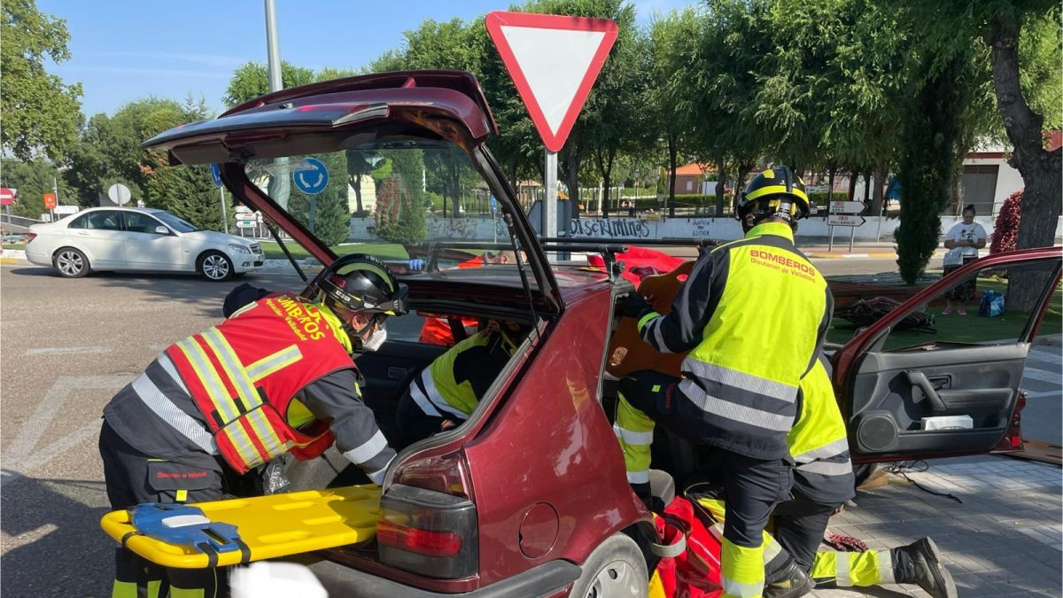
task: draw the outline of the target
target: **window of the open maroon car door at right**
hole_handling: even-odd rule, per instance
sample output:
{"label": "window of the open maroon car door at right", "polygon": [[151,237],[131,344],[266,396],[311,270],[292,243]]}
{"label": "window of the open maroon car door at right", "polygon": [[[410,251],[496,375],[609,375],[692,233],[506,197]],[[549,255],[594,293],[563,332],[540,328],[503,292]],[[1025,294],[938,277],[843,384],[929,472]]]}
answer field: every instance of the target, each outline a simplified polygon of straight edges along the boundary
{"label": "window of the open maroon car door at right", "polygon": [[[1015,343],[1036,317],[1057,264],[1042,260],[983,268],[957,279],[929,305],[921,305],[895,326],[883,349],[911,351]],[[1058,331],[1063,326],[1061,299],[1063,292],[1057,285],[1041,330]],[[960,313],[961,309],[966,315]]]}

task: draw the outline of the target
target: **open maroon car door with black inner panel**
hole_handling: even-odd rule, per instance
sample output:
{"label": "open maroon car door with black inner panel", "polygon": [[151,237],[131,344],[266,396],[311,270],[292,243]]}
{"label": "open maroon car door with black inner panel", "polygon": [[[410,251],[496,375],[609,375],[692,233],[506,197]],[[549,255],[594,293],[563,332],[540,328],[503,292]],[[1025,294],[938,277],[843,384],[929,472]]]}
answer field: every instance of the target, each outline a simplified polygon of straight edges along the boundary
{"label": "open maroon car door with black inner panel", "polygon": [[[1060,329],[1061,262],[1056,247],[967,264],[839,350],[834,388],[854,461],[1022,447],[1019,383],[1037,326]],[[946,297],[966,300],[969,315],[942,315]],[[992,309],[979,314],[980,301]],[[917,312],[934,317],[934,330],[905,327]]]}

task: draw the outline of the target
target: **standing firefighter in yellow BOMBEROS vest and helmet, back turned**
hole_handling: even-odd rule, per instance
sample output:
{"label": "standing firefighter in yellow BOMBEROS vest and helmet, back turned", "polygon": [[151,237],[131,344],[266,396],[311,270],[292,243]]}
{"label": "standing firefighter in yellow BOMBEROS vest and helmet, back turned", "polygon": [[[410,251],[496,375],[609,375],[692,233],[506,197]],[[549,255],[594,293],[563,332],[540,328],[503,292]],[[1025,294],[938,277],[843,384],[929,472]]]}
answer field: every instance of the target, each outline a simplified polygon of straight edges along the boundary
{"label": "standing firefighter in yellow BOMBEROS vest and helmet, back turned", "polygon": [[736,199],[735,213],[745,237],[703,252],[671,313],[657,314],[637,294],[619,305],[638,319],[644,342],[689,354],[682,379],[642,371],[620,381],[617,432],[628,482],[643,499],[655,421],[721,452],[724,592],[755,597],[764,586],[764,525],[789,497],[787,434],[797,416],[797,385],[819,354],[833,301],[794,246],[809,202],[789,168],[758,175]]}

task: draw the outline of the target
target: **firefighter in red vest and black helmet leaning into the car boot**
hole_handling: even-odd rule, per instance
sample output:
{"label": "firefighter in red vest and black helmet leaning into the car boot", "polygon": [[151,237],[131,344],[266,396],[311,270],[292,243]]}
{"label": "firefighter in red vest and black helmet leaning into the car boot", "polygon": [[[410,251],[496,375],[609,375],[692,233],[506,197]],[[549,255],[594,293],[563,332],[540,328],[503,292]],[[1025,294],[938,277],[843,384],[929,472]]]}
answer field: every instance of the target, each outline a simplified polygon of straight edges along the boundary
{"label": "firefighter in red vest and black helmet leaning into the car boot", "polygon": [[[222,496],[222,463],[244,474],[333,442],[376,484],[395,451],[360,398],[355,352],[375,350],[407,287],[368,255],[318,279],[318,301],[270,294],[169,346],[103,410],[100,454],[112,509]],[[119,548],[113,596],[215,596],[217,569],[168,569]]]}

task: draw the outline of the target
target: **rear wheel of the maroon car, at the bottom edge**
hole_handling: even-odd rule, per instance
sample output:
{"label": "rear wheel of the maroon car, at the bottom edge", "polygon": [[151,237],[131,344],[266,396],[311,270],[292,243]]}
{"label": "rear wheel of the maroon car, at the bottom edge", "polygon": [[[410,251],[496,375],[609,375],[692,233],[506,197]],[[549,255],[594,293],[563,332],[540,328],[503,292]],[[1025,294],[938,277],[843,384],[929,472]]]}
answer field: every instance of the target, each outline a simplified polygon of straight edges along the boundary
{"label": "rear wheel of the maroon car, at the bottom edge", "polygon": [[645,598],[649,574],[639,545],[624,533],[615,533],[598,545],[584,563],[583,574],[572,584],[570,598]]}

